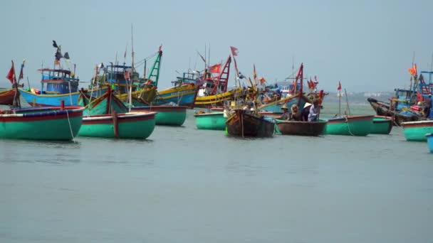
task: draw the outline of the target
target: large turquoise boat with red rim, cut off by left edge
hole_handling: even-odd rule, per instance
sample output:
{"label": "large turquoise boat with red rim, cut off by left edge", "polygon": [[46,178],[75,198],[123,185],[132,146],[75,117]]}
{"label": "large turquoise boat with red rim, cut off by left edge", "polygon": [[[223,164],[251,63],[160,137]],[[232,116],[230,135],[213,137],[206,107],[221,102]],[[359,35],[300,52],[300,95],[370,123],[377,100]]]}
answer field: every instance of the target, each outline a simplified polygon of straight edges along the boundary
{"label": "large turquoise boat with red rim, cut off by left edge", "polygon": [[0,138],[71,140],[78,134],[84,107],[40,107],[4,110]]}

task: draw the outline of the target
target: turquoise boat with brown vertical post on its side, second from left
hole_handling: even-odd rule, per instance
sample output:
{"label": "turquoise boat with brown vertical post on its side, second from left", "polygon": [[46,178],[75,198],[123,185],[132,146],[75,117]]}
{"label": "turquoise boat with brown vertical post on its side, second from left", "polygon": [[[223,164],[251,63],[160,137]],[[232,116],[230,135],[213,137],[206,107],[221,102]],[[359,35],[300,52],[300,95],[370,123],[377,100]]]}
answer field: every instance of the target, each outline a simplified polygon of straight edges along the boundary
{"label": "turquoise boat with brown vertical post on its side, second from left", "polygon": [[156,112],[133,112],[83,117],[78,136],[147,139],[155,129]]}

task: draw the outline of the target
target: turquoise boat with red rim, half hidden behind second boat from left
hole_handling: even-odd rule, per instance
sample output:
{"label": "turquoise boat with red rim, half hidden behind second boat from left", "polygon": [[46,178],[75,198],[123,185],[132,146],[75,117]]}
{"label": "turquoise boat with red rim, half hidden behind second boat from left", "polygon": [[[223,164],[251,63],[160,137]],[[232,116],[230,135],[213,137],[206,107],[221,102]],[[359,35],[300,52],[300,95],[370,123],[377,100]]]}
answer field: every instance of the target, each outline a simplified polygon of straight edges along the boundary
{"label": "turquoise boat with red rim, half hidden behind second boat from left", "polygon": [[131,112],[157,112],[155,117],[157,125],[164,126],[182,126],[187,119],[188,107],[174,106],[146,106],[131,107]]}

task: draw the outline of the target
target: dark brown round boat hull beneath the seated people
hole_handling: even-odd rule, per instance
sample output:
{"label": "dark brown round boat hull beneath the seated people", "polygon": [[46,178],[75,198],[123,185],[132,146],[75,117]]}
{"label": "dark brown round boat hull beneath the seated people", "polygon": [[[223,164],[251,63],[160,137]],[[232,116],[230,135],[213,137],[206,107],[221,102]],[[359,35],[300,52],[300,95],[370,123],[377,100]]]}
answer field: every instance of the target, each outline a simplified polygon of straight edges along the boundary
{"label": "dark brown round boat hull beneath the seated people", "polygon": [[318,136],[323,133],[327,122],[276,120],[276,125],[283,135]]}

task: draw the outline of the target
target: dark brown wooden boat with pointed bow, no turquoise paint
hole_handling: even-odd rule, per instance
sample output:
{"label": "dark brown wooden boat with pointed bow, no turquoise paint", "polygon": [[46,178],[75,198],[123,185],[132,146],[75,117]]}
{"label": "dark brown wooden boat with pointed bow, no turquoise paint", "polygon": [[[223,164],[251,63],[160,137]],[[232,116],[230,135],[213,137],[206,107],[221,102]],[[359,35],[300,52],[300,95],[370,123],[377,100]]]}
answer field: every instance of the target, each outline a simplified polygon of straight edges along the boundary
{"label": "dark brown wooden boat with pointed bow, no turquoise paint", "polygon": [[272,136],[275,124],[264,117],[245,114],[242,109],[236,109],[226,121],[227,133],[232,136]]}

